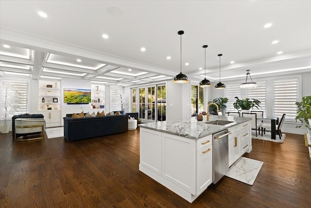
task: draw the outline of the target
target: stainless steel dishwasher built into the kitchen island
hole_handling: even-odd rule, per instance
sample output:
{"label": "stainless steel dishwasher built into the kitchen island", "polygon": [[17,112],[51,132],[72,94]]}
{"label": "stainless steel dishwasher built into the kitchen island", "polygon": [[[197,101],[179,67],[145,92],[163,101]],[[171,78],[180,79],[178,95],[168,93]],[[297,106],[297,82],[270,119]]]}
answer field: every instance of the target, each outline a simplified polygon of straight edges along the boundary
{"label": "stainless steel dishwasher built into the kitchen island", "polygon": [[227,129],[213,134],[213,184],[229,171]]}

